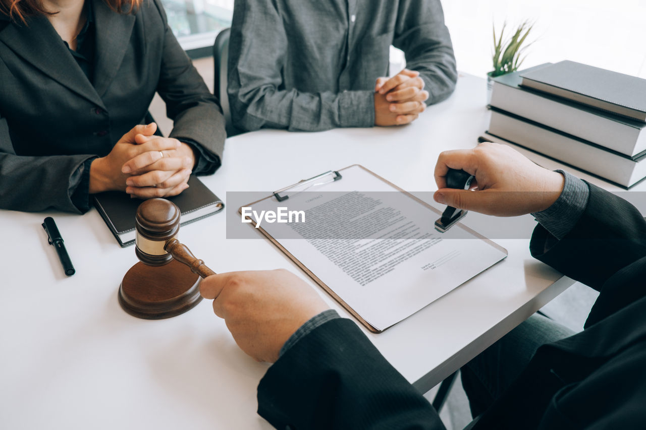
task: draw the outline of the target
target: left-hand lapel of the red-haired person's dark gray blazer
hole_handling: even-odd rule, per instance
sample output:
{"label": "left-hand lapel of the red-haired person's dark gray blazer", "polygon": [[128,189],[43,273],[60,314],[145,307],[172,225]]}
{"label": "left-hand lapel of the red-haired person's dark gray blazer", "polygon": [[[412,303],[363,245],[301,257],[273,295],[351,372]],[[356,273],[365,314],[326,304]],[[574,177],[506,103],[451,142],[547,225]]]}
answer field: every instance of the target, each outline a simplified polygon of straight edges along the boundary
{"label": "left-hand lapel of the red-haired person's dark gray blazer", "polygon": [[70,88],[79,96],[105,108],[92,83],[78,66],[47,17],[38,15],[28,18],[27,25],[10,23],[3,32],[0,32],[0,41],[44,74]]}

